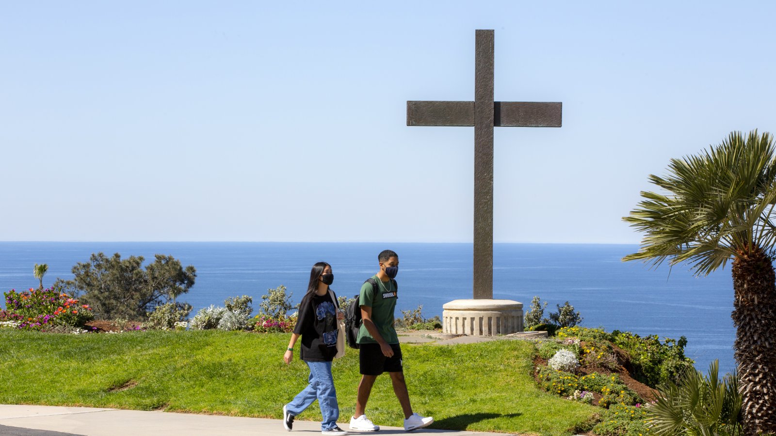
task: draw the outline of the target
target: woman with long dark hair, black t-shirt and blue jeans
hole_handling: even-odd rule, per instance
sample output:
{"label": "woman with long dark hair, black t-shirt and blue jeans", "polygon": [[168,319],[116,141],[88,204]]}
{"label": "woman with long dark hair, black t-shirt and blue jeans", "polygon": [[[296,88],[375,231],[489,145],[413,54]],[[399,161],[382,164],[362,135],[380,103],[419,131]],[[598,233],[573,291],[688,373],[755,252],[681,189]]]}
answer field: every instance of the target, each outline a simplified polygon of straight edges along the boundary
{"label": "woman with long dark hair, black t-shirt and blue jeans", "polygon": [[293,419],[318,400],[324,422],[322,434],[348,434],[337,425],[339,406],[334,379],[331,377],[331,361],[337,354],[338,319],[345,313],[339,310],[337,296],[329,289],[334,282],[331,265],[318,262],[310,271],[310,284],[299,307],[299,317],[291,334],[283,362],[293,359],[293,346],[301,337],[300,358],[310,367],[310,383],[290,403],[283,406],[283,427],[291,431]]}

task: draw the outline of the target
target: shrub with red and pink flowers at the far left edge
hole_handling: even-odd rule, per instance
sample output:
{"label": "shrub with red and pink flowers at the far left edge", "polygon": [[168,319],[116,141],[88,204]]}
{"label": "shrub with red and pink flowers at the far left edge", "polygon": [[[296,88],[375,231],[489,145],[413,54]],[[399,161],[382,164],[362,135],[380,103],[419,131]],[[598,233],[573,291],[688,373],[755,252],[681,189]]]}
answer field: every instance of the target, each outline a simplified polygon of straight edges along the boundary
{"label": "shrub with red and pink flowers at the far left edge", "polygon": [[[26,292],[4,292],[6,323],[12,321],[22,330],[43,330],[54,325],[83,327],[94,319],[92,308],[60,289],[29,289]],[[10,326],[10,323],[6,324]]]}

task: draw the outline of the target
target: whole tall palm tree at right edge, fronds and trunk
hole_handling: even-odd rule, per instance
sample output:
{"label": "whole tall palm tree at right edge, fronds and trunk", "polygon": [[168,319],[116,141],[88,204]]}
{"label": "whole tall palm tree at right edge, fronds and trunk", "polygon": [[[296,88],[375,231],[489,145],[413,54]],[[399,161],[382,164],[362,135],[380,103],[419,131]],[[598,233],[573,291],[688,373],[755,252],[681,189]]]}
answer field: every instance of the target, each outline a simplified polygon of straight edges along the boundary
{"label": "whole tall palm tree at right edge, fronds and trunk", "polygon": [[645,233],[623,260],[686,262],[708,275],[732,260],[733,345],[746,434],[776,432],[776,151],[770,133],[730,133],[696,156],[672,159],[663,193],[644,198],[623,218]]}

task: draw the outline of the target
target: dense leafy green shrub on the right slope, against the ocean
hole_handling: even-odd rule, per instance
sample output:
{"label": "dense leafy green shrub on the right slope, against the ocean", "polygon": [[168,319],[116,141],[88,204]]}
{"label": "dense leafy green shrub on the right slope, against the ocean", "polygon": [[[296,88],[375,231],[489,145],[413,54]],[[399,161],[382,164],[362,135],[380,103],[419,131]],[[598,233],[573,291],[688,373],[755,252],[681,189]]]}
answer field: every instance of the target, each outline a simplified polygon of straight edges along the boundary
{"label": "dense leafy green shrub on the right slope, against the ocean", "polygon": [[684,372],[695,370],[695,362],[684,357],[684,346],[687,345],[684,336],[679,341],[666,337],[662,343],[657,335],[640,337],[628,331],[615,330],[611,336],[612,342],[628,351],[634,368],[633,378],[648,386],[678,382]]}

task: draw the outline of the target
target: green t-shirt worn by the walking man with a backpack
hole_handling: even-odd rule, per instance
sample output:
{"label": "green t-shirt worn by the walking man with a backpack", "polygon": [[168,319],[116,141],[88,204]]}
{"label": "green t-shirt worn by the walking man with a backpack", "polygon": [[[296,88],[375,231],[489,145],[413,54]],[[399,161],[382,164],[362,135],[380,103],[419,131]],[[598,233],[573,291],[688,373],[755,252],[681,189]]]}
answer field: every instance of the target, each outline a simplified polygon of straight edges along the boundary
{"label": "green t-shirt worn by the walking man with a backpack", "polygon": [[[381,282],[377,275],[372,275],[372,279],[377,282],[377,293],[369,282],[361,286],[361,295],[359,296],[359,306],[372,307],[372,321],[377,327],[380,336],[388,344],[398,344],[399,337],[396,335],[396,329],[393,328],[393,310],[396,309],[396,287],[393,281]],[[376,344],[375,338],[366,330],[366,326],[361,324],[359,329],[359,344]]]}

